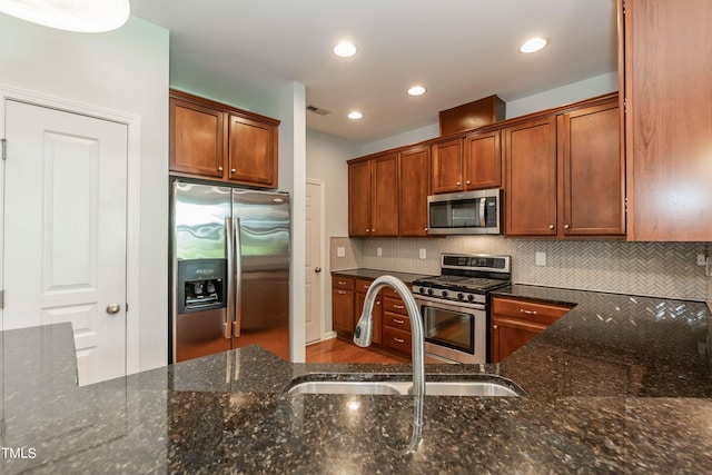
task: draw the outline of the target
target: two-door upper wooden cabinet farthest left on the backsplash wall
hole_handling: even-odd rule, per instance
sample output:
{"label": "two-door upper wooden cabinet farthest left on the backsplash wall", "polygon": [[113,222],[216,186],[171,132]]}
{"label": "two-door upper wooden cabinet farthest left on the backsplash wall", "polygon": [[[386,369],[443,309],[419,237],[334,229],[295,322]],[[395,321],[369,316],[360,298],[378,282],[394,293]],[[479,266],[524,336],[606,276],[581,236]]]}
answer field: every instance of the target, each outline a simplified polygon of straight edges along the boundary
{"label": "two-door upper wooden cabinet farthest left on the backsplash wall", "polygon": [[398,236],[398,155],[348,162],[348,235]]}

